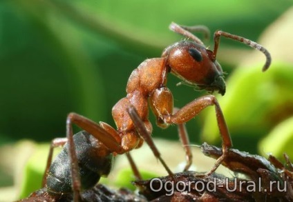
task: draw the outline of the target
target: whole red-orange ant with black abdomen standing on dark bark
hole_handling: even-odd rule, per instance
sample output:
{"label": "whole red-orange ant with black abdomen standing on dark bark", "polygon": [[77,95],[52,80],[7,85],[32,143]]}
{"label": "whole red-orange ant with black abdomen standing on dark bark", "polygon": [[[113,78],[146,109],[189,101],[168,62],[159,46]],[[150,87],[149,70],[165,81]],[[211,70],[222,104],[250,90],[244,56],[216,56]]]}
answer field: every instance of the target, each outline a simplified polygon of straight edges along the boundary
{"label": "whole red-orange ant with black abdomen standing on dark bark", "polygon": [[[155,157],[172,176],[173,173],[162,160],[150,136],[152,126],[148,118],[148,101],[159,127],[167,128],[170,124],[178,125],[179,137],[182,144],[185,145],[187,157],[187,165],[184,170],[189,169],[192,157],[185,123],[196,117],[207,106],[214,105],[220,136],[223,140],[223,154],[217,159],[214,167],[207,172],[207,175],[214,172],[225,159],[232,142],[217,99],[213,95],[205,95],[187,103],[181,109],[173,109],[173,96],[166,87],[167,73],[175,74],[183,82],[198,89],[208,92],[218,91],[224,95],[223,70],[216,61],[221,36],[240,41],[263,52],[266,57],[263,71],[270,66],[270,53],[254,41],[220,30],[214,33],[214,51],[211,51],[205,48],[204,43],[198,37],[191,34],[195,31],[208,34],[209,30],[205,26],[187,27],[171,23],[170,29],[188,37],[191,41],[184,40],[174,43],[164,50],[162,57],[147,59],[133,70],[126,86],[126,97],[120,99],[112,109],[117,130],[104,122],[95,123],[73,112],[68,114],[66,139],[54,139],[51,144],[43,179],[43,186],[46,186],[48,192],[64,194],[73,191],[74,201],[78,201],[81,199],[81,190],[91,188],[99,181],[100,176],[108,175],[113,155],[116,154],[126,153],[135,176],[140,179],[140,174],[129,151],[140,148],[144,141],[149,144]],[[85,131],[73,136],[73,123]],[[65,143],[67,145],[64,146],[64,150],[51,165],[53,148]]]}

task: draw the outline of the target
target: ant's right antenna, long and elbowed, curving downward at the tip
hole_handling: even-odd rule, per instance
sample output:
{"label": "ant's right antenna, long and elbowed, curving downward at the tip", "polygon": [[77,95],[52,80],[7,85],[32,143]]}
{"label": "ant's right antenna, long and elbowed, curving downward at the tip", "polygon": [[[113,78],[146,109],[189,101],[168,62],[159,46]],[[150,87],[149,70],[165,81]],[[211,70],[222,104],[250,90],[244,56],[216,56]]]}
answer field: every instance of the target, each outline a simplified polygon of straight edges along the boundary
{"label": "ant's right antenna, long and elbowed, curving downward at the tip", "polygon": [[265,54],[265,57],[267,58],[267,60],[265,61],[265,65],[263,66],[263,72],[265,72],[265,70],[267,70],[267,68],[270,67],[270,64],[272,62],[272,57],[270,55],[270,52],[267,51],[267,49],[265,49],[263,46],[261,46],[260,44],[254,42],[254,41],[251,41],[249,39],[245,39],[244,37],[240,37],[235,34],[223,32],[221,30],[218,30],[214,33],[214,51],[213,51],[214,52],[214,56],[213,56],[214,59],[216,59],[221,36],[226,37],[228,39],[233,39],[235,41],[239,41],[241,43],[246,44],[247,46],[250,46],[256,50],[263,52],[263,54]]}

